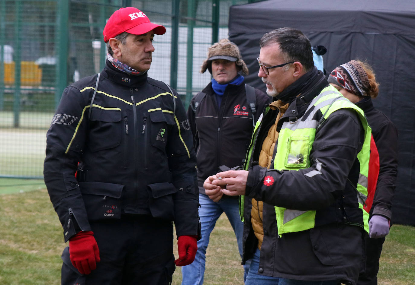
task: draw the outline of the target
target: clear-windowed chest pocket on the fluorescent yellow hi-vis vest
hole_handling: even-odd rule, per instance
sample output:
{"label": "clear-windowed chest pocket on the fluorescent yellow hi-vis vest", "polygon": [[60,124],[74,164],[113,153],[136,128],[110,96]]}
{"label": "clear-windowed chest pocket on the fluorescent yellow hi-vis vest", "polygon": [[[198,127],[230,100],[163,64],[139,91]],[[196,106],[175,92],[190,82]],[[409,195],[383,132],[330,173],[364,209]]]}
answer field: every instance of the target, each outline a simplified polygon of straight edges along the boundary
{"label": "clear-windowed chest pocket on the fluorescent yellow hi-vis vest", "polygon": [[284,166],[287,168],[304,168],[308,166],[309,136],[293,136],[288,139]]}

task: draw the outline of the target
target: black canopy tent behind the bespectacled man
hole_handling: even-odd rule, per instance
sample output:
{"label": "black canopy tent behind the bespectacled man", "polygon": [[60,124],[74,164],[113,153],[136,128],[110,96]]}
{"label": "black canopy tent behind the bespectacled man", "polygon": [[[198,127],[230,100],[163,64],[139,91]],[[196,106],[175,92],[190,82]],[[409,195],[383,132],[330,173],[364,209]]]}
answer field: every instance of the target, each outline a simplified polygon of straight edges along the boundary
{"label": "black canopy tent behind the bespectacled man", "polygon": [[269,0],[230,7],[229,39],[248,65],[247,82],[264,91],[257,77],[259,39],[280,27],[299,29],[313,46],[325,46],[329,73],[351,59],[365,60],[374,68],[381,84],[374,105],[399,131],[393,222],[415,225],[414,2]]}

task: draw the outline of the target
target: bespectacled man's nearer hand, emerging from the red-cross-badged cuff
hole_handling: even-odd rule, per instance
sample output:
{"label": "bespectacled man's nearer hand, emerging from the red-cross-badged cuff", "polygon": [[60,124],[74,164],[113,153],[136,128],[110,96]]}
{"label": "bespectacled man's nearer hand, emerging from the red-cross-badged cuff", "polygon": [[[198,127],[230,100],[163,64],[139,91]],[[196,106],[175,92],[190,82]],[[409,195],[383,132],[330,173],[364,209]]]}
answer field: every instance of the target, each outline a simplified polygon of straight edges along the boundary
{"label": "bespectacled man's nearer hand, emerging from the red-cross-badged cuff", "polygon": [[227,196],[245,195],[248,171],[228,170],[224,172],[219,172],[215,176],[217,179],[212,180],[211,183],[212,185],[220,186],[223,194]]}

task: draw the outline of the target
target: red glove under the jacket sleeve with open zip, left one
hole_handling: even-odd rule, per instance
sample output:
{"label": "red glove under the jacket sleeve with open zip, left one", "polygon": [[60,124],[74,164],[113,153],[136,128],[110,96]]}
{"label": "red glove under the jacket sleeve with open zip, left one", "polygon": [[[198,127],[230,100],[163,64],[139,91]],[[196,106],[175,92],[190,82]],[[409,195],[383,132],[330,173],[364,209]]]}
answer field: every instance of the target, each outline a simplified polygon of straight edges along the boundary
{"label": "red glove under the jacket sleeve with open zip, left one", "polygon": [[78,232],[69,239],[69,258],[81,274],[89,274],[100,262],[100,251],[93,232]]}

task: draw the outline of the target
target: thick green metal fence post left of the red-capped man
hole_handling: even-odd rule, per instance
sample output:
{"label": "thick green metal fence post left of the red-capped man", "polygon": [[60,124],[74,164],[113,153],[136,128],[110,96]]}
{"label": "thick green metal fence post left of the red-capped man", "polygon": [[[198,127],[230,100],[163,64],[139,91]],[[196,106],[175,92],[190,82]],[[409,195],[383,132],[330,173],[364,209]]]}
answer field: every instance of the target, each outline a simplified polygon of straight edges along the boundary
{"label": "thick green metal fence post left of the red-capped man", "polygon": [[55,46],[57,47],[56,60],[56,91],[55,91],[55,106],[57,107],[61,100],[63,89],[68,85],[68,38],[69,38],[69,1],[57,0],[58,10],[56,17]]}

